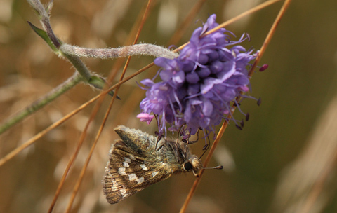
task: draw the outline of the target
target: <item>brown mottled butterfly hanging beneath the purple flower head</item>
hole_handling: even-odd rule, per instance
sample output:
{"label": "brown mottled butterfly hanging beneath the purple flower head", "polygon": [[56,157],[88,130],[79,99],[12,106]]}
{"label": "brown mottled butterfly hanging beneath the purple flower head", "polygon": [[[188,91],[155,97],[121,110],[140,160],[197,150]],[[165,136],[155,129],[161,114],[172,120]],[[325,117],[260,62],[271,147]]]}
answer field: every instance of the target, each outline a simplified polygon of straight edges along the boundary
{"label": "brown mottled butterfly hanging beneath the purple flower head", "polygon": [[202,168],[185,142],[149,135],[124,125],[114,128],[121,139],[110,149],[110,158],[102,181],[107,202],[114,204],[168,179],[172,174]]}

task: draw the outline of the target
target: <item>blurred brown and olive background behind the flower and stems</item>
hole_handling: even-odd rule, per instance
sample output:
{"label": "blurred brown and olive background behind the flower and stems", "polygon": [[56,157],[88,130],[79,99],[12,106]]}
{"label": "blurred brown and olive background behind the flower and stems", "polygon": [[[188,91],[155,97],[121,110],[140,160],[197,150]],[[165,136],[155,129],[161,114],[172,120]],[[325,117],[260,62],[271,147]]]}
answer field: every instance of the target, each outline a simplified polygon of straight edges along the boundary
{"label": "blurred brown and olive background behind the flower and stems", "polygon": [[[215,13],[217,22],[262,1],[203,1],[179,41],[170,43],[190,10],[199,1],[153,1],[139,42],[180,46],[193,30]],[[46,1],[43,2],[46,4]],[[226,27],[237,37],[248,32],[245,48],[259,49],[283,1]],[[125,45],[147,1],[58,0],[51,25],[62,41],[90,48]],[[57,57],[29,28],[41,27],[27,1],[0,0],[0,123],[72,76],[71,64]],[[231,122],[187,212],[337,212],[337,1],[293,1],[252,80],[253,97],[242,102],[250,120],[238,130]],[[137,27],[137,26],[136,26]],[[131,38],[134,36],[131,35]],[[116,60],[84,59],[88,67],[109,76]],[[153,62],[153,57],[133,57],[126,76]],[[103,135],[88,165],[72,212],[178,212],[194,181],[192,174],[171,177],[116,205],[105,201],[101,180],[113,128],[126,125],[154,133],[156,125],[141,123],[136,114],[145,92],[136,81],[152,78],[148,69],[119,90]],[[117,74],[119,78],[121,69]],[[0,158],[41,130],[88,101],[99,91],[79,84],[37,113],[0,135]],[[105,97],[79,156],[56,202],[54,212],[64,212],[81,167],[93,144],[111,97]],[[37,140],[0,167],[0,212],[47,212],[68,160],[94,104]],[[242,114],[234,117],[241,120]],[[198,156],[204,142],[191,147]],[[203,158],[204,159],[204,158]]]}

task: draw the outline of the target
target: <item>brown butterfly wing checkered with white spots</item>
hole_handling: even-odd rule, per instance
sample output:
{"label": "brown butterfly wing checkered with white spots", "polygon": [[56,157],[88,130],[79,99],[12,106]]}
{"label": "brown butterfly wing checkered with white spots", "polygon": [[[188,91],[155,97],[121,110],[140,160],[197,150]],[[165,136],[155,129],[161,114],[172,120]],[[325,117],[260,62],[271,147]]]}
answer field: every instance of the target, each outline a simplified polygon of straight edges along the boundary
{"label": "brown butterfly wing checkered with white spots", "polygon": [[[151,184],[167,179],[172,172],[157,160],[156,153],[139,152],[122,140],[112,145],[105,168],[103,192],[107,202],[120,202]],[[136,149],[136,151],[135,151]]]}

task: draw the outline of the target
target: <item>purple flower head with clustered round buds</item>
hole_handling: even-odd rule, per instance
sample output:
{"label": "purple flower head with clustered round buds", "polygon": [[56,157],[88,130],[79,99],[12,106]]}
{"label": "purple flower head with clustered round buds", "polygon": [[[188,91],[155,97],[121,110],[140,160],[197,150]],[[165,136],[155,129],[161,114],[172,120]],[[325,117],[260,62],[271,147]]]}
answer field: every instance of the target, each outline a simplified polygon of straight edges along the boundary
{"label": "purple flower head with clustered round buds", "polygon": [[160,82],[141,81],[147,92],[139,117],[150,123],[150,114],[156,115],[159,133],[166,132],[166,123],[171,125],[169,130],[183,135],[194,135],[199,128],[214,132],[230,113],[230,102],[249,90],[246,67],[256,54],[237,45],[246,37],[232,41],[228,35],[232,32],[224,28],[204,35],[217,26],[216,15],[211,15],[203,27],[194,30],[177,58],[154,60],[161,67]]}

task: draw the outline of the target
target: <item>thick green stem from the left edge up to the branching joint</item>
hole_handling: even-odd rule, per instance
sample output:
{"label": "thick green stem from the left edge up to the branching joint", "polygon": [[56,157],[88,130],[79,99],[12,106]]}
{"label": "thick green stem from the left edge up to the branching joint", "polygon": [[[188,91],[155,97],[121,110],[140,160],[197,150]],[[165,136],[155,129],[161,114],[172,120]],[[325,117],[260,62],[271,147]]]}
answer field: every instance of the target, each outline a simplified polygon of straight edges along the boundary
{"label": "thick green stem from the left edge up to the branching joint", "polygon": [[23,118],[29,116],[30,114],[33,114],[42,107],[46,106],[46,104],[52,102],[54,99],[67,92],[67,90],[73,88],[74,85],[77,85],[77,83],[82,80],[82,76],[75,72],[75,74],[72,77],[68,78],[67,81],[58,85],[57,88],[54,88],[53,90],[51,90],[51,92],[48,92],[47,95],[37,99],[37,101],[33,102],[22,111],[15,114],[13,117],[9,118],[5,123],[1,124],[0,134],[8,130],[8,128],[11,128],[13,125],[15,125],[15,123],[22,121]]}

